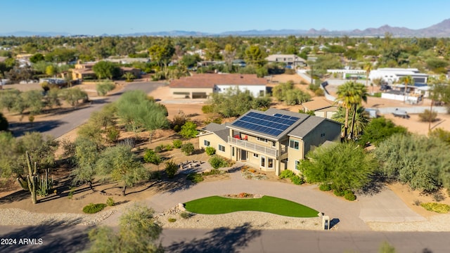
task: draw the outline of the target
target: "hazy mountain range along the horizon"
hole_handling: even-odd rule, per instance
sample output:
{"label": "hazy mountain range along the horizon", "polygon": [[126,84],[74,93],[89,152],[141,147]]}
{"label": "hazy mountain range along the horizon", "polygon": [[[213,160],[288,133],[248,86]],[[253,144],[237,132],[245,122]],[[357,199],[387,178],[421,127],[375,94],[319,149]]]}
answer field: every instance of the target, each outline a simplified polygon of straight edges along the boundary
{"label": "hazy mountain range along the horizon", "polygon": [[[208,36],[327,36],[327,37],[382,37],[386,33],[392,34],[393,37],[450,37],[450,18],[436,25],[426,27],[423,29],[409,29],[406,27],[391,27],[383,25],[378,28],[367,28],[365,30],[343,30],[343,31],[329,31],[321,30],[248,30],[248,31],[229,31],[221,33],[207,33],[194,31],[169,31],[169,32],[139,32],[132,34],[101,34],[101,36],[161,36],[161,37],[208,37]],[[15,36],[15,37],[56,37],[56,36],[90,36],[90,35],[73,35],[67,32],[7,32],[0,33],[0,36]]]}

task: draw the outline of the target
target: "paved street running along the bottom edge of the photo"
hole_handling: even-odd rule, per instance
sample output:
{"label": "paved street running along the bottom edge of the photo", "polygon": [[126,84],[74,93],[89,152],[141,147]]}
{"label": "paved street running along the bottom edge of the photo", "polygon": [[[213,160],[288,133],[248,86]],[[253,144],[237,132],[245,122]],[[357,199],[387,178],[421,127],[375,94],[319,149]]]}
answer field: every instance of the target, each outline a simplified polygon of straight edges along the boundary
{"label": "paved street running along the bottom edge of the photo", "polygon": [[[0,226],[0,238],[16,239],[17,245],[0,245],[0,252],[79,252],[89,247],[86,226]],[[386,233],[342,231],[259,231],[238,228],[165,229],[161,242],[166,252],[378,252],[389,242],[397,252],[449,252],[450,233]],[[39,245],[18,245],[20,239],[42,240]],[[425,251],[424,249],[428,249]]]}

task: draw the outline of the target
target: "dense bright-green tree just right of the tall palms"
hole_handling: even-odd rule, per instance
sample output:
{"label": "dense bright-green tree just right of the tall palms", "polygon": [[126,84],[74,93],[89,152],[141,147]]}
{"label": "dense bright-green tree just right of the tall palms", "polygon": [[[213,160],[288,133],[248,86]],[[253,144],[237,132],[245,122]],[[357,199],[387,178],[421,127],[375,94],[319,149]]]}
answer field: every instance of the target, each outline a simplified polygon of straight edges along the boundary
{"label": "dense bright-green tree just right of the tall palms", "polygon": [[378,117],[376,119],[371,119],[358,141],[363,145],[371,143],[378,146],[382,141],[385,141],[385,139],[394,134],[407,133],[408,129],[404,126],[396,126],[392,120],[386,119],[385,117]]}

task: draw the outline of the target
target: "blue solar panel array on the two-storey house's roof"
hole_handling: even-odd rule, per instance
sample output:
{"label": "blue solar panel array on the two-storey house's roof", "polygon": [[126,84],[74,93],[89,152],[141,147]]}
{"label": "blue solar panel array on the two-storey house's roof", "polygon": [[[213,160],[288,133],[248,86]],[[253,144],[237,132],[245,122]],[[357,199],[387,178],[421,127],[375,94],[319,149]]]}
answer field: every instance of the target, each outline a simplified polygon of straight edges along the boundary
{"label": "blue solar panel array on the two-storey house's roof", "polygon": [[288,129],[289,126],[292,126],[297,119],[299,118],[281,115],[279,113],[271,116],[258,112],[249,112],[231,125],[257,131],[262,134],[268,134],[270,136],[278,136],[278,134],[281,134]]}

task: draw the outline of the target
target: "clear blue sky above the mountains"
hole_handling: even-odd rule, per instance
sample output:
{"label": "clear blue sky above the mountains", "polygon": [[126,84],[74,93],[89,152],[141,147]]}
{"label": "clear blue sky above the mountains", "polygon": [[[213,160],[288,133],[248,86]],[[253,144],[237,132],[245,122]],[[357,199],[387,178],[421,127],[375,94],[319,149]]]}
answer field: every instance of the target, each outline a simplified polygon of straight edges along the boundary
{"label": "clear blue sky above the mountains", "polygon": [[0,33],[420,29],[447,18],[449,0],[0,1]]}

